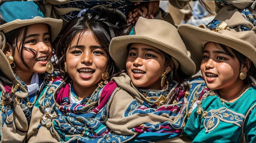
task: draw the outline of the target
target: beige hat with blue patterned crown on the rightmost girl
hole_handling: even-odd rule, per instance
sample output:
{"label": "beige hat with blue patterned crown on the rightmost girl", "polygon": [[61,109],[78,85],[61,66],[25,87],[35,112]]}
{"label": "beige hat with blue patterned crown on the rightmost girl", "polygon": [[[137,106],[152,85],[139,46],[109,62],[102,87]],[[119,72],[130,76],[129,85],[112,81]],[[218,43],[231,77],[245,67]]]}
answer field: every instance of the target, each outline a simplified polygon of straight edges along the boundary
{"label": "beige hat with blue patterned crown on the rightmost girl", "polygon": [[207,42],[231,47],[252,60],[256,66],[255,24],[255,19],[248,9],[239,11],[235,7],[225,6],[208,25],[197,27],[182,24],[177,29],[199,71],[202,50]]}

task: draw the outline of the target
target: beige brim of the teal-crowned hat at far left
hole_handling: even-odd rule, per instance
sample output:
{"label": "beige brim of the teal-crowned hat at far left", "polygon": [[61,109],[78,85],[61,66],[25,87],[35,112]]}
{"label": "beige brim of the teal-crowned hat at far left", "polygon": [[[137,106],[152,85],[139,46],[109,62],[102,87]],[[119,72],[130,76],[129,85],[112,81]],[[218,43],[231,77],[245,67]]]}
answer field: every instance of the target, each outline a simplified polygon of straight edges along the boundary
{"label": "beige brim of the teal-crowned hat at far left", "polygon": [[33,19],[26,20],[16,19],[1,25],[0,30],[2,30],[4,34],[6,34],[7,32],[12,31],[14,29],[37,23],[45,23],[51,27],[50,30],[52,34],[52,41],[54,41],[61,31],[63,20],[55,18],[42,18],[40,16],[36,16]]}

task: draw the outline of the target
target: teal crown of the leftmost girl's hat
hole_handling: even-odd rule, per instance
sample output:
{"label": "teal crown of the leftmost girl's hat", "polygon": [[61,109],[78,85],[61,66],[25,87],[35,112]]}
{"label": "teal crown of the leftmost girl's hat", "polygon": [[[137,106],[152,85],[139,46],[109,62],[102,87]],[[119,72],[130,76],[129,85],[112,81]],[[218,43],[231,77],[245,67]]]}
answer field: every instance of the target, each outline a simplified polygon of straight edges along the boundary
{"label": "teal crown of the leftmost girl's hat", "polygon": [[0,5],[0,13],[5,22],[11,22],[16,19],[33,19],[36,16],[44,18],[38,5],[33,1],[11,1],[3,2]]}

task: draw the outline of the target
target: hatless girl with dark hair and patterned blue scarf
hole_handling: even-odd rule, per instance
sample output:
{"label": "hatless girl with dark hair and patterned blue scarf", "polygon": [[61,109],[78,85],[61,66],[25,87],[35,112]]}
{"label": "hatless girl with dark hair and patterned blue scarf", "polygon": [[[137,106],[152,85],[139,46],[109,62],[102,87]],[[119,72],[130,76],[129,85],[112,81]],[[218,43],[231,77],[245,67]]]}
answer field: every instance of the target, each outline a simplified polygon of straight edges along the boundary
{"label": "hatless girl with dark hair and patterned blue scarf", "polygon": [[117,12],[104,9],[83,10],[70,20],[57,42],[60,77],[41,94],[29,142],[108,139],[104,135],[111,131],[104,120],[109,98],[100,98],[100,94],[109,88],[105,84],[115,72],[108,45],[125,25]]}

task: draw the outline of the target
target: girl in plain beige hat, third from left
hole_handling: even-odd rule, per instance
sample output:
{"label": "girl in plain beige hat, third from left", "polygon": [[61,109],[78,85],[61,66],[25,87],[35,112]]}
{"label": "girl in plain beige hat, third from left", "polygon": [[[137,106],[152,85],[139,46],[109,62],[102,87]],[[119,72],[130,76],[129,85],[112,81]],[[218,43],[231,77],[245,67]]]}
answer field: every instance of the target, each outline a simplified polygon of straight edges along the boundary
{"label": "girl in plain beige hat, third from left", "polygon": [[186,116],[181,106],[190,83],[184,79],[195,72],[177,29],[164,20],[141,17],[129,35],[111,40],[110,56],[128,75],[112,78],[123,90],[112,97],[108,127],[134,135],[132,142],[175,141]]}

